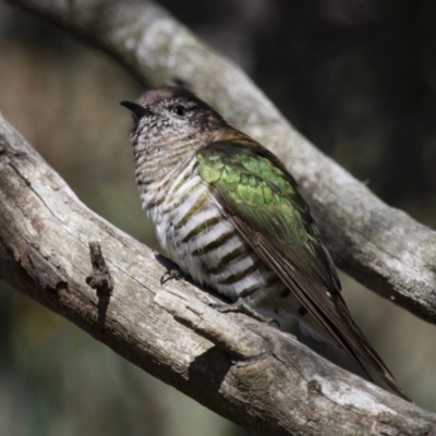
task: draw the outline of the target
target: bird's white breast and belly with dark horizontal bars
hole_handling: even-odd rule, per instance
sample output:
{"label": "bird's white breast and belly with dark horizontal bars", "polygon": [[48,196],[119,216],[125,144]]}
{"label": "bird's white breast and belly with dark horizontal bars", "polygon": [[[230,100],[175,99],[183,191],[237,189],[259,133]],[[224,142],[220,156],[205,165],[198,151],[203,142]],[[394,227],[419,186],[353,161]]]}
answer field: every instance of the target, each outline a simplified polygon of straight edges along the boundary
{"label": "bird's white breast and belly with dark horizontal bars", "polygon": [[[223,215],[196,166],[194,158],[148,190],[143,184],[143,208],[155,223],[164,254],[196,282],[231,301],[243,298],[266,314],[296,316],[301,322],[301,304]],[[303,331],[318,338],[307,322]]]}

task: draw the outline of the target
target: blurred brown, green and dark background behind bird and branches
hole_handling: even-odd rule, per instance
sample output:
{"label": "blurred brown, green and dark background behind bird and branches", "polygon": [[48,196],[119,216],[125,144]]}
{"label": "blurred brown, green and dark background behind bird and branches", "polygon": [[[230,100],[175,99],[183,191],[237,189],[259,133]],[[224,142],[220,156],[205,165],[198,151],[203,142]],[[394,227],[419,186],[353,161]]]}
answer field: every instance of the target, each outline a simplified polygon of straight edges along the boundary
{"label": "blurred brown, green and dark background behind bird and branches", "polygon": [[[434,1],[160,3],[385,202],[436,227]],[[134,181],[131,119],[119,106],[143,90],[102,53],[0,2],[0,110],[92,209],[154,246]],[[435,412],[435,326],[341,277],[370,342]],[[335,350],[311,346],[355,371]],[[246,435],[2,281],[0,433]]]}

